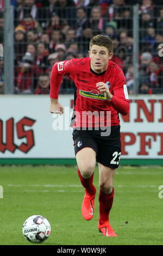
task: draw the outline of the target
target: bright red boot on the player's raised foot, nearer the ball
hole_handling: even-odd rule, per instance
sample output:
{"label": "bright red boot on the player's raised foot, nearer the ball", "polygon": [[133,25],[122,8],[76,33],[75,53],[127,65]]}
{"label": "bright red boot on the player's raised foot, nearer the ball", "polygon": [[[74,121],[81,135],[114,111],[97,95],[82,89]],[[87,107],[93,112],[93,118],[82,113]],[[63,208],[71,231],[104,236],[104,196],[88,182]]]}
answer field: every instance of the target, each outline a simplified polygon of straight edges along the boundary
{"label": "bright red boot on the player's raised foot, nearer the ball", "polygon": [[93,194],[85,192],[82,204],[82,215],[86,221],[90,221],[93,218],[95,211],[95,195],[96,195],[96,187],[95,192]]}

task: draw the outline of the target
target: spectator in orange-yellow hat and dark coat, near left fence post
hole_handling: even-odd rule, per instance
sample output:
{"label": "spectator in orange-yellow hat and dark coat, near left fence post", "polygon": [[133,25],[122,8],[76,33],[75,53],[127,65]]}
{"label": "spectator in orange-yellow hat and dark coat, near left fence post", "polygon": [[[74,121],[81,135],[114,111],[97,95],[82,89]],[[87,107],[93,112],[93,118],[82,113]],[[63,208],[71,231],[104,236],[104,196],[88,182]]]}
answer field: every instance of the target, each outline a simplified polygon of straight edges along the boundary
{"label": "spectator in orange-yellow hat and dark coat, near left fence post", "polygon": [[26,52],[26,30],[22,26],[15,28],[14,52],[17,62],[19,62]]}

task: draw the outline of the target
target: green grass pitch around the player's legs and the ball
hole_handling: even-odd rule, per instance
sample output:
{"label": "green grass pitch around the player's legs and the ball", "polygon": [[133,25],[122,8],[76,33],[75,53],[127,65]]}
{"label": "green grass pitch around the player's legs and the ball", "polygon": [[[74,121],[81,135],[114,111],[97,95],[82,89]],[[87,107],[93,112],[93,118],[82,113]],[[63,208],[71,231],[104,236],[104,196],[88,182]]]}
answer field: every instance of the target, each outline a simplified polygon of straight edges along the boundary
{"label": "green grass pitch around the player's legs and the ball", "polygon": [[95,216],[81,214],[84,196],[76,167],[1,167],[0,245],[32,245],[22,235],[22,224],[31,215],[51,223],[48,240],[40,245],[162,245],[162,203],[158,197],[163,167],[120,167],[116,170],[115,197],[110,223],[118,237],[98,232],[98,169]]}

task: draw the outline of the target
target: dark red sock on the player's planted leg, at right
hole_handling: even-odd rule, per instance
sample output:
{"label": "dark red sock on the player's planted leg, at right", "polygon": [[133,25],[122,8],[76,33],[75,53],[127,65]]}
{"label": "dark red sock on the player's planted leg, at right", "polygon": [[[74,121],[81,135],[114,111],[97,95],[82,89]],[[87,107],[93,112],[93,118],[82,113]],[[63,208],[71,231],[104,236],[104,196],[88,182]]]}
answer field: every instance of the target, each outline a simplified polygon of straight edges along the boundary
{"label": "dark red sock on the player's planted leg, at right", "polygon": [[110,194],[105,194],[102,190],[99,192],[99,224],[109,221],[109,212],[114,198],[114,187]]}

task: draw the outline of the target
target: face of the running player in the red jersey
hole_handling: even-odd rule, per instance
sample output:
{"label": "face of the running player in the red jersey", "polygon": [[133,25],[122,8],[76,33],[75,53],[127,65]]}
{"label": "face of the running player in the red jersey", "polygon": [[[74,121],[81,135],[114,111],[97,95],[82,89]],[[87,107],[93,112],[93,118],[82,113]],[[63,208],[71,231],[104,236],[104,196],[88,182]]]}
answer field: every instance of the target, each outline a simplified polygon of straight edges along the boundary
{"label": "face of the running player in the red jersey", "polygon": [[100,74],[107,69],[112,53],[109,53],[105,46],[92,45],[89,56],[91,59],[91,69]]}

